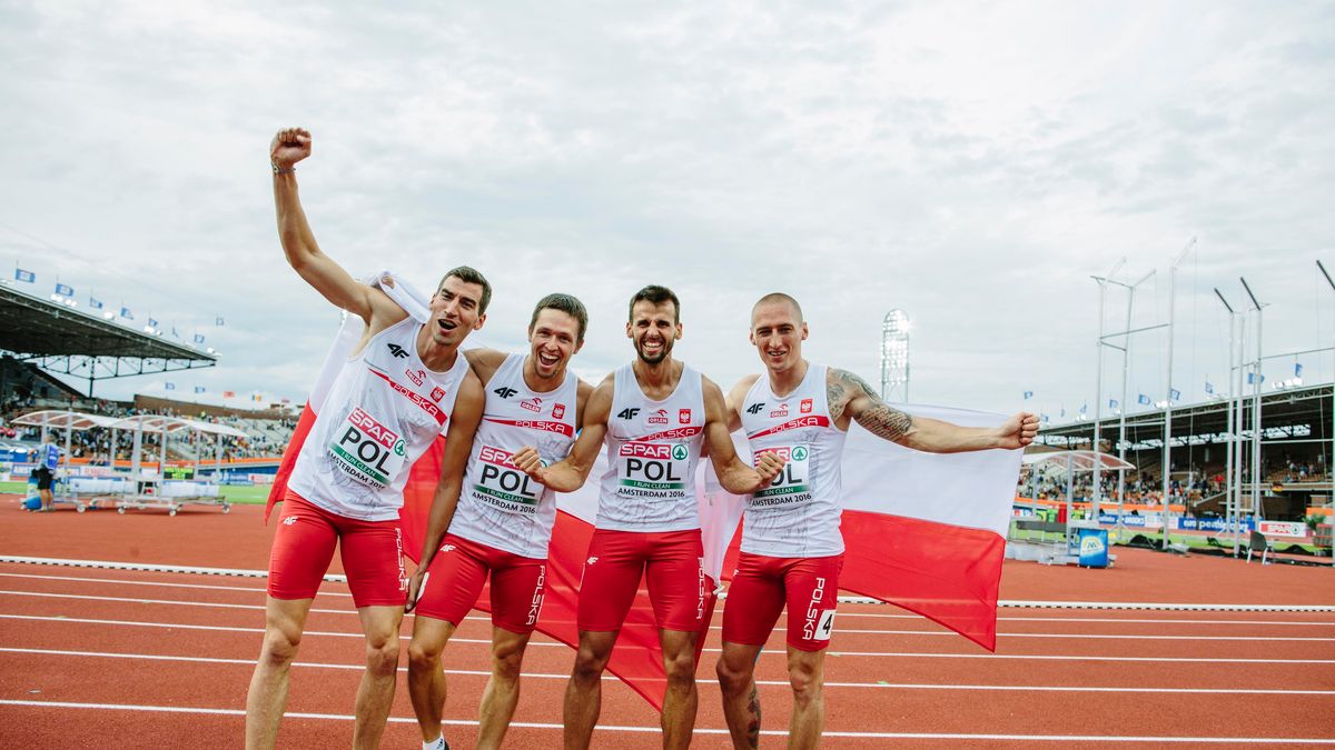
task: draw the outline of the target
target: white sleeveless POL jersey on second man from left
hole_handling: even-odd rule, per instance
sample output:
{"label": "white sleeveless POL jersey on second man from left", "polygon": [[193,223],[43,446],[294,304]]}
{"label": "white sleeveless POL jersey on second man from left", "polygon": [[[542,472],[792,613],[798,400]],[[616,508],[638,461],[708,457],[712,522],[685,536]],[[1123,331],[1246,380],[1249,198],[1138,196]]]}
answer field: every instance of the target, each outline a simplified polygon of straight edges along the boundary
{"label": "white sleeveless POL jersey on second man from left", "polygon": [[450,534],[525,558],[546,558],[557,520],[555,492],[514,467],[525,446],[547,464],[570,454],[575,440],[579,379],[567,374],[557,390],[535,394],[523,382],[525,355],[511,354],[487,383],[487,406],[473,439]]}

